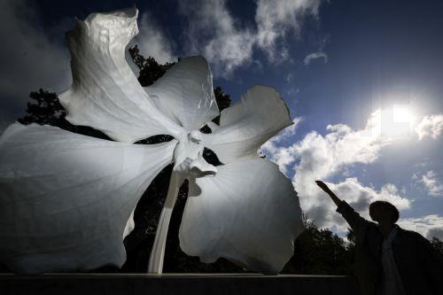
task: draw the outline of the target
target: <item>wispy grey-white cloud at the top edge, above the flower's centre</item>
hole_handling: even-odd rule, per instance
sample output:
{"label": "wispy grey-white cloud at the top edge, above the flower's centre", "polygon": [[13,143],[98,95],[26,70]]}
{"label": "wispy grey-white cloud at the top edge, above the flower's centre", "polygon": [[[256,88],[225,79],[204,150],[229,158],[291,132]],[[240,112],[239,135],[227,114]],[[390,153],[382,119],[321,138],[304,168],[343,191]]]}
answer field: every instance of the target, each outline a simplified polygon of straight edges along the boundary
{"label": "wispy grey-white cloud at the top edge, above the flower's centre", "polygon": [[264,50],[271,61],[288,58],[285,36],[299,34],[302,20],[307,15],[317,15],[320,1],[260,0],[255,14],[256,27],[242,25],[235,19],[225,0],[180,4],[181,12],[188,19],[186,54],[204,55],[215,75],[229,77],[237,67],[253,63],[254,47]]}

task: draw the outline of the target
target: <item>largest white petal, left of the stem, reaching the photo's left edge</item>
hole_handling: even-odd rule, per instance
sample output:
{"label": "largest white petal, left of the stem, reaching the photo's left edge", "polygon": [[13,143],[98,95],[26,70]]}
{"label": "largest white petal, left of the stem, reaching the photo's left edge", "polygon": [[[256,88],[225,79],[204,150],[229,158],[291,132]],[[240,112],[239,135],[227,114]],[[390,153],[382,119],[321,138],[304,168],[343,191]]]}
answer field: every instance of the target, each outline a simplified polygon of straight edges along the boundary
{"label": "largest white petal, left of the stem, reaching the photo's left edge", "polygon": [[175,144],[13,124],[0,138],[0,261],[18,273],[120,267],[131,212]]}

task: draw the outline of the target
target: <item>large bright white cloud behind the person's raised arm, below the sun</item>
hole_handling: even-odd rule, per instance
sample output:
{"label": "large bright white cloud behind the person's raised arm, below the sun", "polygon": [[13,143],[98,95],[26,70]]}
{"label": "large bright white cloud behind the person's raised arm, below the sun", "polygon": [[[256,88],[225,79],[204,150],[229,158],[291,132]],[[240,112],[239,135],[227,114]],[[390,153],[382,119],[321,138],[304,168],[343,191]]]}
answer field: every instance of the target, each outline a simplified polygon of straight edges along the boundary
{"label": "large bright white cloud behind the person's raised arm, below the sun", "polygon": [[[330,198],[320,190],[315,180],[327,180],[346,171],[355,163],[369,164],[378,158],[383,147],[392,139],[381,135],[381,111],[369,116],[365,128],[353,130],[344,124],[330,125],[325,136],[315,131],[308,133],[299,142],[290,146],[278,146],[275,140],[265,144],[265,151],[282,171],[287,172],[292,163],[295,175],[293,184],[299,192],[300,205],[309,218],[321,227],[335,226],[338,231],[346,230],[346,221],[335,212]],[[368,206],[377,199],[390,201],[400,210],[409,208],[410,202],[402,197],[393,184],[387,183],[379,190],[361,184],[355,177],[331,184],[338,196],[347,200],[355,210],[369,218]]]}

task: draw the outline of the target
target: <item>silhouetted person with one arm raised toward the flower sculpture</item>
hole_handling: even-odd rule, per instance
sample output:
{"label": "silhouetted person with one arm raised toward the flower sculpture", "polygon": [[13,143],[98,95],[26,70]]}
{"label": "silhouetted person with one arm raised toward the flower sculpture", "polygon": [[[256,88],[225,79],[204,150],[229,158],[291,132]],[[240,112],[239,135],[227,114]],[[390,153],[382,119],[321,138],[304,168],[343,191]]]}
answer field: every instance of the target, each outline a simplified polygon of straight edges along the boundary
{"label": "silhouetted person with one arm raised toward the flower sculpture", "polygon": [[324,182],[316,183],[354,230],[354,274],[363,294],[443,294],[443,255],[420,234],[395,224],[395,206],[385,201],[370,204],[369,215],[376,224],[362,218]]}

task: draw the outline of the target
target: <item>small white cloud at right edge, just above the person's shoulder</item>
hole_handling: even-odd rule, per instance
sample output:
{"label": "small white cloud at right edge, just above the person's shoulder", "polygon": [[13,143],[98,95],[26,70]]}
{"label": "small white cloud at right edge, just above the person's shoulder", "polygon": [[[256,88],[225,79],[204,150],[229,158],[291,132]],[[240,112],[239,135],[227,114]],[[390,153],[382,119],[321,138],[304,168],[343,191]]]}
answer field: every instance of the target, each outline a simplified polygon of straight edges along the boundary
{"label": "small white cloud at right edge, just above the person's shoulder", "polygon": [[443,216],[432,214],[419,218],[400,219],[398,224],[403,229],[414,230],[429,239],[438,237],[440,241],[443,241]]}

